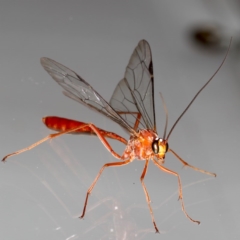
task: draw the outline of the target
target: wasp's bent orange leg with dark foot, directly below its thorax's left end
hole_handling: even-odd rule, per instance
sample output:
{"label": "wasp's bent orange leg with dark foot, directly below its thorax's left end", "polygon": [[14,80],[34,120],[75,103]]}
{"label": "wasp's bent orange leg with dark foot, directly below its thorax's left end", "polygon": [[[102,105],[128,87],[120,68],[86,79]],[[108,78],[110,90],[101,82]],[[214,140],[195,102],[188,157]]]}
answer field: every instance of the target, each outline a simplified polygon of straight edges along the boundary
{"label": "wasp's bent orange leg with dark foot, directly below its thorax's left end", "polygon": [[106,168],[106,167],[120,167],[120,166],[123,166],[123,165],[127,165],[129,164],[133,159],[129,159],[129,160],[125,160],[123,162],[113,162],[113,163],[106,163],[102,166],[102,168],[100,169],[98,175],[96,176],[96,178],[94,179],[93,183],[91,184],[91,186],[89,187],[88,191],[87,191],[87,195],[86,195],[86,199],[85,199],[85,203],[84,203],[84,207],[83,207],[83,212],[82,212],[82,215],[80,216],[80,218],[83,218],[84,215],[85,215],[85,212],[86,212],[86,207],[87,207],[87,203],[88,203],[88,197],[89,195],[91,194],[94,186],[96,185],[99,177],[101,176],[103,170]]}

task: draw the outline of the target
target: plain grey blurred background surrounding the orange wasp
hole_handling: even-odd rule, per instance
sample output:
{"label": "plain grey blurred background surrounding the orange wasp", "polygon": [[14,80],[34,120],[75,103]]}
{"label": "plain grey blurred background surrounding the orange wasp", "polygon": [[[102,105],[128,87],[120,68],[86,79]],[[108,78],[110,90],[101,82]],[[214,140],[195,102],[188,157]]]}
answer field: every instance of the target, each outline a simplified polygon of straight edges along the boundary
{"label": "plain grey blurred background surrounding the orange wasp", "polygon": [[[233,1],[228,1],[233,4]],[[21,149],[51,131],[46,115],[68,117],[128,135],[117,124],[64,97],[40,66],[50,57],[79,73],[109,100],[141,39],[149,41],[155,72],[156,118],[163,132],[162,92],[173,124],[220,65],[225,51],[197,48],[188,29],[218,22],[234,35],[238,9],[227,1],[1,1],[0,153]],[[233,40],[234,41],[234,40]],[[81,214],[87,188],[114,158],[95,137],[63,136],[0,165],[0,239],[239,239],[240,81],[233,47],[170,138],[170,146],[217,178],[182,169],[191,223],[177,201],[177,179],[150,164],[145,183],[161,235],[155,234],[139,181],[143,162],[107,169]],[[121,153],[124,146],[110,141]]]}

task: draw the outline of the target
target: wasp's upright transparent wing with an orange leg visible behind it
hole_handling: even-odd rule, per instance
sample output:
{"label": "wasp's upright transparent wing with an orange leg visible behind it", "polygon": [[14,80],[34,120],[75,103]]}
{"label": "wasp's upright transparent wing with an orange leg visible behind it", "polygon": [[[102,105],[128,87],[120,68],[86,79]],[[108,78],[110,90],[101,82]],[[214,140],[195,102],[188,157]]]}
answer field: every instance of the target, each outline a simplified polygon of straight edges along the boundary
{"label": "wasp's upright transparent wing with an orange leg visible behind it", "polygon": [[147,41],[138,43],[109,103],[134,130],[156,131],[153,64]]}

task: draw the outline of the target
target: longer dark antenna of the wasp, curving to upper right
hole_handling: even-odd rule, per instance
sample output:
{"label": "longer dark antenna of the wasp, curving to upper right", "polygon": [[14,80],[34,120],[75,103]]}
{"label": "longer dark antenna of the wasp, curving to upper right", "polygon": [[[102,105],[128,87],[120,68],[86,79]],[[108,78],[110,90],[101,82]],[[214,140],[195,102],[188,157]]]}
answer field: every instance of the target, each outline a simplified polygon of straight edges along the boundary
{"label": "longer dark antenna of the wasp, curving to upper right", "polygon": [[212,75],[212,77],[200,88],[200,90],[197,92],[197,94],[193,97],[193,99],[191,100],[191,102],[187,105],[187,107],[185,108],[185,110],[181,113],[181,115],[178,117],[178,119],[176,120],[176,122],[173,124],[171,130],[169,131],[166,141],[168,141],[173,129],[176,127],[177,123],[179,122],[179,120],[182,118],[182,116],[185,114],[185,112],[189,109],[189,107],[192,105],[192,103],[194,102],[194,100],[197,98],[197,96],[199,95],[199,93],[211,82],[211,80],[215,77],[215,75],[218,73],[218,71],[220,70],[220,68],[222,67],[223,63],[225,62],[227,55],[229,53],[230,50],[230,46],[232,43],[232,37],[230,39],[230,43],[229,43],[229,47],[227,50],[227,53],[225,54],[225,57],[222,61],[222,63],[220,64],[220,66],[218,67],[217,71]]}

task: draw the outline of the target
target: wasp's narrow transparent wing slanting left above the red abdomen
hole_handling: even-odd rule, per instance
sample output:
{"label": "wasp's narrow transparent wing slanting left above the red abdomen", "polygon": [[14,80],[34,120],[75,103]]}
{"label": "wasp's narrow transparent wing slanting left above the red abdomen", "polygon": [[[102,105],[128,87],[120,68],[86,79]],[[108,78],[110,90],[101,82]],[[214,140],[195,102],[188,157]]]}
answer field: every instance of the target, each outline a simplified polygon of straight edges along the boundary
{"label": "wasp's narrow transparent wing slanting left above the red abdomen", "polygon": [[100,96],[100,94],[75,72],[49,58],[41,58],[41,64],[50,76],[65,89],[63,92],[64,95],[111,118],[130,133],[135,133],[132,127]]}

